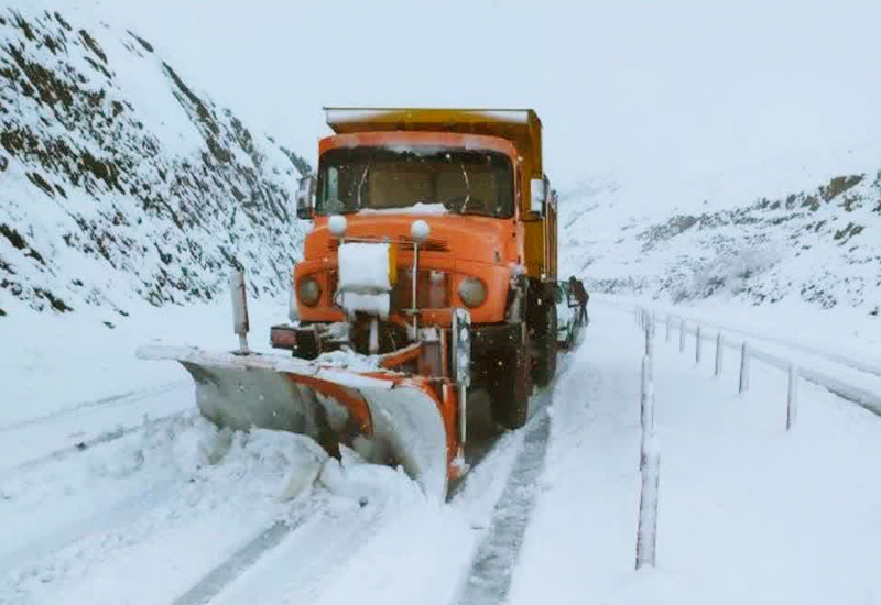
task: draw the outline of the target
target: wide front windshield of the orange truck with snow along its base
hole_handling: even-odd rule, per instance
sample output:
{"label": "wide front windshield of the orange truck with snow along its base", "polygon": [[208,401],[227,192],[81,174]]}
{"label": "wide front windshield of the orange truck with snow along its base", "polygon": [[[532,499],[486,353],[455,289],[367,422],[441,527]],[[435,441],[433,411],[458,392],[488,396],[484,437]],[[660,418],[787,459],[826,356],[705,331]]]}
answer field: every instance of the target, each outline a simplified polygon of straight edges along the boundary
{"label": "wide front windshield of the orange truck with snow along its base", "polygon": [[337,148],[322,156],[316,210],[336,215],[443,205],[448,212],[505,218],[513,215],[513,185],[511,161],[500,153]]}

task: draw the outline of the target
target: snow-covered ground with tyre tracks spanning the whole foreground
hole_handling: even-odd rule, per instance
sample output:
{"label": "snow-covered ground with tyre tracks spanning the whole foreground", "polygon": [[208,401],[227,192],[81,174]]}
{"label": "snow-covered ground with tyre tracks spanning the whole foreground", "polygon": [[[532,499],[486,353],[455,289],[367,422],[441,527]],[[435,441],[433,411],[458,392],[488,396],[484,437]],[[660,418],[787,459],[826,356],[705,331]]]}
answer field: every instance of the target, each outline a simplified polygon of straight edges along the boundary
{"label": "snow-covered ground with tyre tracks spanning the whole foreground", "polygon": [[302,437],[219,431],[188,384],[13,419],[0,428],[15,440],[0,444],[0,602],[881,597],[881,420],[802,383],[787,433],[779,371],[755,364],[741,397],[736,364],[714,378],[663,338],[659,568],[633,571],[642,344],[631,315],[594,308],[527,426],[478,448],[444,504],[394,470],[325,462]]}

